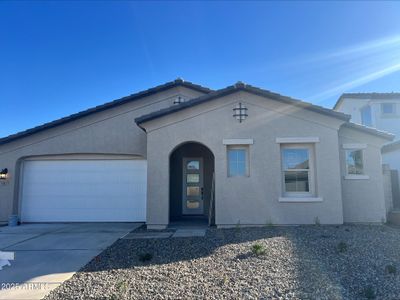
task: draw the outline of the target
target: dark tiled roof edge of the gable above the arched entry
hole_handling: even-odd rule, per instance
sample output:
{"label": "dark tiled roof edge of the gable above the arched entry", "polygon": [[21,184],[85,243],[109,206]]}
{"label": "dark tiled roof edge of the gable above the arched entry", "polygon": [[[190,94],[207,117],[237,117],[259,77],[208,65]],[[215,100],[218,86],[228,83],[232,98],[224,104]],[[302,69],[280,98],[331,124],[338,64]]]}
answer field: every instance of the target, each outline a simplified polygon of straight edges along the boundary
{"label": "dark tiled roof edge of the gable above the arched entry", "polygon": [[157,119],[157,118],[160,118],[160,117],[163,117],[163,116],[166,116],[166,115],[169,115],[169,114],[172,114],[172,113],[187,109],[189,107],[193,107],[193,106],[199,105],[201,103],[204,103],[204,102],[216,99],[216,98],[220,98],[220,97],[223,97],[223,96],[226,96],[226,95],[238,92],[238,91],[245,91],[245,92],[252,93],[252,94],[255,94],[255,95],[258,95],[258,96],[266,97],[266,98],[269,98],[269,99],[274,99],[274,100],[277,100],[277,101],[281,101],[281,102],[284,102],[284,103],[287,103],[287,104],[291,104],[291,105],[297,106],[299,108],[304,108],[304,109],[307,109],[307,110],[318,112],[318,113],[321,113],[321,114],[324,114],[324,115],[328,115],[328,116],[331,116],[331,117],[334,117],[334,118],[338,118],[338,119],[341,119],[341,120],[345,120],[345,121],[350,120],[350,115],[346,115],[346,114],[341,113],[341,112],[336,112],[336,111],[334,111],[332,109],[324,108],[322,106],[314,105],[314,104],[311,104],[311,103],[308,103],[308,102],[303,102],[301,100],[293,99],[293,98],[290,98],[290,97],[287,97],[287,96],[282,96],[280,94],[273,93],[273,92],[268,91],[268,90],[260,89],[260,88],[257,88],[257,87],[254,87],[254,86],[251,86],[251,85],[248,85],[248,84],[244,84],[242,82],[238,82],[235,85],[228,86],[228,87],[226,87],[224,89],[220,89],[220,90],[211,92],[211,93],[209,93],[207,95],[191,99],[191,100],[183,102],[183,103],[181,103],[179,105],[172,106],[172,107],[165,108],[165,109],[161,109],[159,111],[143,115],[141,117],[136,118],[135,122],[138,125],[140,125],[140,124],[142,124],[144,122],[148,122],[148,121],[151,121],[151,120],[154,120],[154,119]]}

